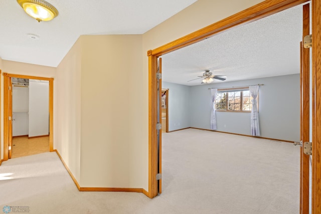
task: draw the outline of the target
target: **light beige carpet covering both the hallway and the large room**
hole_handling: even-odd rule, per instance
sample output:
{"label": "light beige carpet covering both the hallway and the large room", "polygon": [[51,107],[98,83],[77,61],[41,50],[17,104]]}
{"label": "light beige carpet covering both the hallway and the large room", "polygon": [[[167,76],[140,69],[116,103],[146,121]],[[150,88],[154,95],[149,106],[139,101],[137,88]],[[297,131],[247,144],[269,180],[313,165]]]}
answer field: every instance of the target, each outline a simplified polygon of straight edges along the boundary
{"label": "light beige carpet covering both the hallway and the large room", "polygon": [[163,134],[163,193],[79,192],[56,153],[0,166],[0,208],[29,213],[298,213],[299,148],[187,129]]}

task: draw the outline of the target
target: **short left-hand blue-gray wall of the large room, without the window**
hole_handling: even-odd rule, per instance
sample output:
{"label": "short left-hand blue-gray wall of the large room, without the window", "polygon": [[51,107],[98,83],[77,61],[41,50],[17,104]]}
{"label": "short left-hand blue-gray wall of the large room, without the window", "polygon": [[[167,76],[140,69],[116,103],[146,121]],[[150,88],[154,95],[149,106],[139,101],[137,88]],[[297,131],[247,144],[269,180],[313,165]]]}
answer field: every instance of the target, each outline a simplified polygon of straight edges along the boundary
{"label": "short left-hand blue-gray wall of the large room, without the window", "polygon": [[169,90],[169,131],[190,127],[190,86],[162,82]]}

